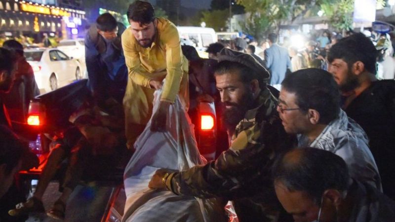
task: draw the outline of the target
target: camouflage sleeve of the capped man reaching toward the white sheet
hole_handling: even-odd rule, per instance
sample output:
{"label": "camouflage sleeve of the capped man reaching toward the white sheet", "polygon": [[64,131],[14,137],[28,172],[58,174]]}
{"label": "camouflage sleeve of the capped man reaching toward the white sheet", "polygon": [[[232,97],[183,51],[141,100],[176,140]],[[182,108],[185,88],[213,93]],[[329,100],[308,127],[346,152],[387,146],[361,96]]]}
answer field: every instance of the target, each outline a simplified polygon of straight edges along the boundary
{"label": "camouflage sleeve of the capped man reaching toward the white sheet", "polygon": [[[271,125],[271,123],[267,122],[263,125]],[[241,131],[231,147],[222,152],[216,161],[171,174],[166,180],[167,188],[178,195],[205,198],[214,196],[226,198],[235,195],[244,184],[259,176],[258,169],[270,161],[272,149],[267,148],[262,141],[266,137],[261,135],[263,128],[266,131],[266,126],[253,124]],[[270,140],[270,137],[266,139]]]}

